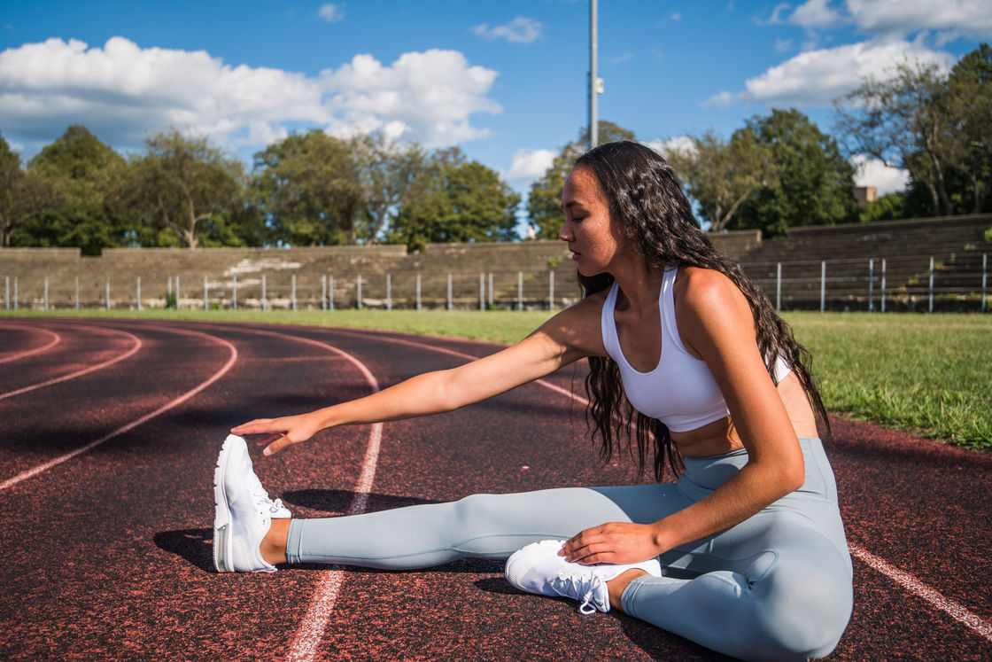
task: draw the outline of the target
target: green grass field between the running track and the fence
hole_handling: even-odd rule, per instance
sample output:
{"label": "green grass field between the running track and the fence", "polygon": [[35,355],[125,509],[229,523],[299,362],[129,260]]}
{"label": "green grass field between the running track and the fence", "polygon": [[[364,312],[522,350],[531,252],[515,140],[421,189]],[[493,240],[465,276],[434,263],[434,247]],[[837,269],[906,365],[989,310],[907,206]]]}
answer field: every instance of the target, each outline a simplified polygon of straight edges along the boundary
{"label": "green grass field between the running track and the fence", "polygon": [[[66,311],[19,316],[265,322],[403,331],[510,343],[548,312]],[[827,409],[992,451],[992,316],[791,313]]]}

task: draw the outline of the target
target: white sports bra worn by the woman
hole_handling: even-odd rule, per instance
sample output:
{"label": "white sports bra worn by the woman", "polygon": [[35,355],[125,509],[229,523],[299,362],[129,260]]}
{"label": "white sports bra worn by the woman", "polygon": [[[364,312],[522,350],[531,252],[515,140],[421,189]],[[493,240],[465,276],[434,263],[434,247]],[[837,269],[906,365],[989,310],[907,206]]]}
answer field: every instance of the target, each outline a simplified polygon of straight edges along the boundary
{"label": "white sports bra worn by the woman", "polygon": [[[600,326],[606,353],[620,367],[624,392],[634,408],[645,416],[659,419],[672,432],[687,432],[728,416],[730,410],[709,366],[688,353],[682,344],[672,292],[678,273],[679,267],[670,265],[662,279],[662,291],[658,297],[662,355],[653,370],[640,372],[623,355],[613,319],[619,291],[615,282],[603,302]],[[781,357],[775,368],[777,381],[784,379],[791,369]]]}

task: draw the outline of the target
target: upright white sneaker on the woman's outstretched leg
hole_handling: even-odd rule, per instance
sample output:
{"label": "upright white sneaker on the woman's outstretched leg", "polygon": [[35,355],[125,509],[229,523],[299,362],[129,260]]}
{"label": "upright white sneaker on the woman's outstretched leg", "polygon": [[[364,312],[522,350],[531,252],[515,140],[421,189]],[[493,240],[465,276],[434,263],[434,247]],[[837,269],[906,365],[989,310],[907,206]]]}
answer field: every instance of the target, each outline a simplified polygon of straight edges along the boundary
{"label": "upright white sneaker on the woman's outstretched leg", "polygon": [[228,435],[213,471],[213,567],[218,573],[273,573],[259,546],[273,518],[292,517],[280,499],[273,501],[252,470],[248,447]]}

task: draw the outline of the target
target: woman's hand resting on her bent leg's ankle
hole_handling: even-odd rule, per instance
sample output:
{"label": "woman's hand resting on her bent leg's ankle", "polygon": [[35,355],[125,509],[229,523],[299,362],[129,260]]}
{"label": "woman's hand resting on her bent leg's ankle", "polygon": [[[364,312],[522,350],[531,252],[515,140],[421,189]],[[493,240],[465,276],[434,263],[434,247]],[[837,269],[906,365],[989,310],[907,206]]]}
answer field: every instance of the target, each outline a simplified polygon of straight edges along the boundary
{"label": "woman's hand resting on her bent leg's ankle", "polygon": [[607,522],[566,541],[558,554],[568,561],[588,566],[640,563],[664,551],[655,542],[655,528],[651,524]]}

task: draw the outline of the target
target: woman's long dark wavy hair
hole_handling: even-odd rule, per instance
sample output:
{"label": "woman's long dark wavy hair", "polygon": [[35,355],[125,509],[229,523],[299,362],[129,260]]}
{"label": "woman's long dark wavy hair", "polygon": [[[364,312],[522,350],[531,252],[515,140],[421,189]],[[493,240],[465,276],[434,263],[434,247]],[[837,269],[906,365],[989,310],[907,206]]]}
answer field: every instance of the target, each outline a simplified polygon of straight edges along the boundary
{"label": "woman's long dark wavy hair", "polygon": [[[793,367],[809,402],[829,430],[810,370],[811,355],[796,341],[789,325],[776,315],[768,297],[713,247],[700,229],[672,166],[651,148],[630,141],[596,147],[576,160],[575,167],[579,166],[595,175],[612,221],[621,223],[650,268],[662,272],[669,264],[701,267],[719,271],[733,281],[751,305],[758,348],[767,357],[772,379],[776,359],[782,356]],[[613,277],[606,273],[579,274],[578,283],[587,297],[610,287]],[[593,436],[601,439],[600,457],[604,462],[613,457],[615,450],[625,447],[633,455],[636,444],[642,473],[649,455],[654,456],[657,480],[662,479],[666,466],[677,475],[682,471],[682,456],[672,443],[668,426],[634,409],[623,392],[620,369],[612,358],[589,357],[585,392],[589,397],[586,420]]]}

